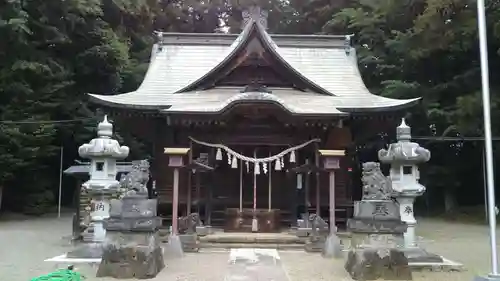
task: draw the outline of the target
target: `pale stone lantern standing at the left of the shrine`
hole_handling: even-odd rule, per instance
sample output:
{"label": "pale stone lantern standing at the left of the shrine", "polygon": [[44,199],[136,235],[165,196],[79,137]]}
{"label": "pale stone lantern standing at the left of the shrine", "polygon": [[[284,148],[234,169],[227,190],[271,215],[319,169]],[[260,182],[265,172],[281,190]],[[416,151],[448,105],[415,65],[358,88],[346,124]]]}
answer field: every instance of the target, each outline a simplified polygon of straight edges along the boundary
{"label": "pale stone lantern standing at the left of the shrine", "polygon": [[90,179],[83,184],[91,200],[90,225],[92,242],[103,242],[106,230],[103,220],[109,218],[110,199],[120,191],[116,180],[116,160],[124,159],[129,154],[127,146],[120,146],[112,139],[113,125],[107,116],[97,126],[97,138],[78,148],[82,158],[90,159]]}

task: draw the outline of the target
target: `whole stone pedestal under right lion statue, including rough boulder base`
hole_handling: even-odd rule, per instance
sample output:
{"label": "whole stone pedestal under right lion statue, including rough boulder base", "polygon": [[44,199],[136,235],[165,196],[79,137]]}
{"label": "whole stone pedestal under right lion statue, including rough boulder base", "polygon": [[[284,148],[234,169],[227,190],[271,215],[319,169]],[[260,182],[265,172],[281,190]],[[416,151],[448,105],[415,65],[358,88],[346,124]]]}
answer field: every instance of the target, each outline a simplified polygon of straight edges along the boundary
{"label": "whole stone pedestal under right lion statue, including rough boulder base", "polygon": [[353,233],[345,269],[354,280],[412,280],[401,246],[406,224],[399,206],[390,200],[355,202],[354,218],[347,222]]}

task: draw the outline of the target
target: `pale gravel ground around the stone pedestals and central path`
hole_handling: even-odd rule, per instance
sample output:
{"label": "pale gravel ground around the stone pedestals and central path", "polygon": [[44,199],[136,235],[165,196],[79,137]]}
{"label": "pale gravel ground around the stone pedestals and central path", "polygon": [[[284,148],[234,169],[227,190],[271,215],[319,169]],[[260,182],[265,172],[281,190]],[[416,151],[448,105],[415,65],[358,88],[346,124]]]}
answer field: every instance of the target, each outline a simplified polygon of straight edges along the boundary
{"label": "pale gravel ground around the stone pedestals and central path", "polygon": [[[0,221],[0,280],[29,281],[46,274],[57,265],[43,262],[71,249],[71,218],[37,218]],[[414,280],[471,281],[476,273],[489,269],[489,240],[486,226],[449,223],[438,220],[419,221],[421,242],[431,252],[465,265],[463,272],[415,272]],[[167,260],[167,268],[154,280],[223,281],[228,268],[227,252],[187,254],[181,260]],[[282,266],[290,281],[348,281],[343,261],[325,260],[318,254],[281,251]],[[87,280],[95,278],[95,268],[80,266]]]}

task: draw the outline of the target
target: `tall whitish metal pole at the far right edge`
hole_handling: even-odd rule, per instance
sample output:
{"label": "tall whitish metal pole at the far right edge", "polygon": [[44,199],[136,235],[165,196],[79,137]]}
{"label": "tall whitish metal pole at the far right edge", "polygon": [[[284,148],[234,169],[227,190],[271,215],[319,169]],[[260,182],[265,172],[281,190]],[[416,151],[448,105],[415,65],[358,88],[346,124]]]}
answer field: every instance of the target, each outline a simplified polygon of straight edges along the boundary
{"label": "tall whitish metal pole at the far right edge", "polygon": [[488,219],[490,225],[491,275],[498,276],[496,239],[495,179],[493,175],[493,145],[491,137],[490,82],[488,70],[488,39],[486,36],[486,8],[484,0],[477,0],[479,48],[481,57],[481,84],[484,111],[484,139],[486,152],[486,180],[488,185]]}

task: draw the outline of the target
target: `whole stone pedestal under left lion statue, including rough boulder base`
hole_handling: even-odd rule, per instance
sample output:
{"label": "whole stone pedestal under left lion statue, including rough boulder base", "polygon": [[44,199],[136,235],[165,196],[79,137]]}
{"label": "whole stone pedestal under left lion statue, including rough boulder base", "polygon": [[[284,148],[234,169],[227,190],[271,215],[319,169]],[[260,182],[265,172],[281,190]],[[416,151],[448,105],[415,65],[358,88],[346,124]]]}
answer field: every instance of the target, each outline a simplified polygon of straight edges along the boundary
{"label": "whole stone pedestal under left lion statue, including rough boulder base", "polygon": [[111,201],[97,277],[153,278],[165,267],[156,204],[156,199],[147,199],[144,194]]}

